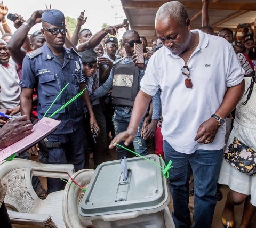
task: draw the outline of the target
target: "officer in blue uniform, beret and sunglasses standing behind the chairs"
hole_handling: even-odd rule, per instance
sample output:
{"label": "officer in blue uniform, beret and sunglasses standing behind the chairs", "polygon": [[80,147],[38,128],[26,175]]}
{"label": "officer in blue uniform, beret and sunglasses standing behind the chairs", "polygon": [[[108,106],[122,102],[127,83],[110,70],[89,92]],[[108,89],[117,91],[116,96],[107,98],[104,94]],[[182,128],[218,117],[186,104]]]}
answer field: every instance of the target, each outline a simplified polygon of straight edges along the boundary
{"label": "officer in blue uniform, beret and sunglasses standing behind the chairs", "polygon": [[[33,25],[30,25],[28,21],[22,26]],[[45,11],[42,15],[42,27],[41,33],[46,42],[41,48],[26,54],[20,81],[22,87],[21,113],[30,118],[32,94],[33,89],[36,88],[39,119],[44,116],[67,83],[69,85],[52,105],[46,116],[50,116],[86,86],[79,55],[64,47],[67,32],[64,14],[59,10]],[[86,90],[82,97],[89,104],[87,109],[91,116],[91,128],[93,124],[98,127]],[[46,146],[49,150],[47,162],[49,164],[73,164],[76,171],[83,169],[87,141],[82,123],[82,98],[76,99],[53,118],[61,120],[61,123],[52,134],[47,136]],[[47,186],[47,193],[51,193],[62,189],[63,183],[61,180],[47,178]]]}

